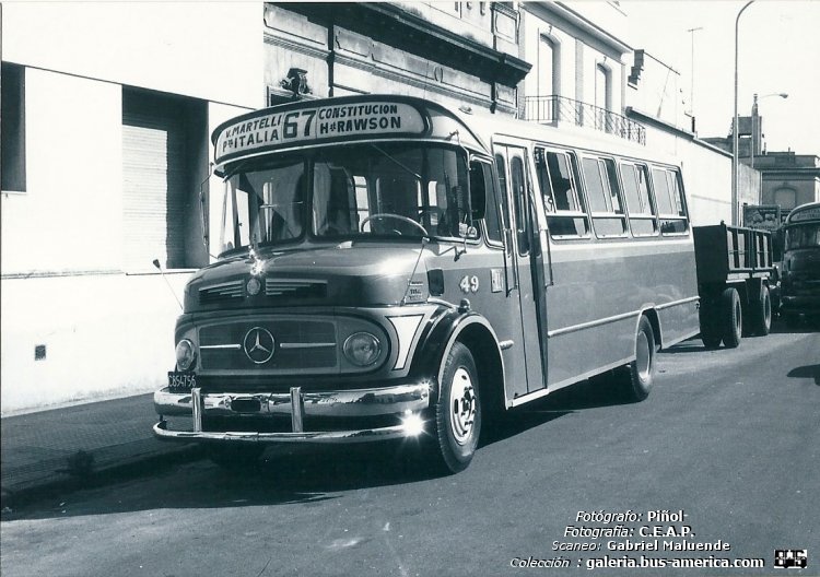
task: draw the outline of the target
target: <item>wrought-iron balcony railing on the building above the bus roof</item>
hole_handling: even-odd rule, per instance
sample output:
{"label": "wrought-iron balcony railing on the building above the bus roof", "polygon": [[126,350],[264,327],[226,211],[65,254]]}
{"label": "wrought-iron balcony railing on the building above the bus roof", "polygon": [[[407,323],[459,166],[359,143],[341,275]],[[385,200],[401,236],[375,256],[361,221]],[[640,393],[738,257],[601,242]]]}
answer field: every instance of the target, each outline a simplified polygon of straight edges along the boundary
{"label": "wrought-iron balcony railing on the building above the bus roof", "polygon": [[535,122],[573,122],[646,145],[646,128],[606,108],[565,96],[527,96],[524,119]]}

